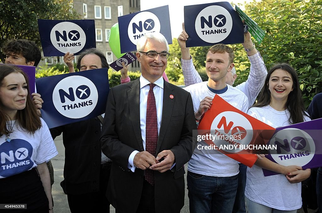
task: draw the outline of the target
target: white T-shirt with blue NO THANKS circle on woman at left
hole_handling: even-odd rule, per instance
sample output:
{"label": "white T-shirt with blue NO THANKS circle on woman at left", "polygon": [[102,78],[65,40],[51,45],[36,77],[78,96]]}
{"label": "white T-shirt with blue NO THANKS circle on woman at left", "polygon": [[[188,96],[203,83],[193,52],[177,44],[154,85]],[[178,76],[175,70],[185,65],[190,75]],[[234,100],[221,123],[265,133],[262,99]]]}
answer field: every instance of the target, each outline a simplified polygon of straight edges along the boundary
{"label": "white T-shirt with blue NO THANKS circle on woman at left", "polygon": [[5,141],[6,135],[0,137],[0,178],[28,171],[58,154],[47,124],[40,120],[42,127],[34,134],[15,123],[10,142]]}

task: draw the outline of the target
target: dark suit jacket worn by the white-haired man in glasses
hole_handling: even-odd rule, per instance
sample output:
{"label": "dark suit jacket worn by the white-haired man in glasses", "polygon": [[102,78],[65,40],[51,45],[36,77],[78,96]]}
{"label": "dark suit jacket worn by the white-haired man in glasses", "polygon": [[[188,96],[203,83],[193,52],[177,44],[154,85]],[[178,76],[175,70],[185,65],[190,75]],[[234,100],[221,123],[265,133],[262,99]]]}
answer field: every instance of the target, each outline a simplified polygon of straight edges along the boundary
{"label": "dark suit jacket worn by the white-haired man in glasses", "polygon": [[[140,129],[139,79],[111,88],[101,133],[103,153],[112,161],[107,197],[124,213],[136,212],[144,181],[144,171],[128,169],[134,150],[144,151]],[[169,96],[173,95],[171,99]],[[164,81],[162,121],[156,153],[171,150],[175,171],[155,171],[156,212],[180,212],[184,206],[185,170],[194,150],[192,130],[196,129],[189,92]]]}

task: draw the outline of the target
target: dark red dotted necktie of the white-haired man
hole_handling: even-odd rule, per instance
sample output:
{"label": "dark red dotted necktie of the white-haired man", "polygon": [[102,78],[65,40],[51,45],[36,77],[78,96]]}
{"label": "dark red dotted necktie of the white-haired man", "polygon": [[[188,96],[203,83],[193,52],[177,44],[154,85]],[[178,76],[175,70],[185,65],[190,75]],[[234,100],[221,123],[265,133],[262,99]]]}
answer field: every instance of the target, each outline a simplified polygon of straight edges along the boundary
{"label": "dark red dotted necktie of the white-haired man", "polygon": [[[156,99],[154,97],[153,88],[156,86],[150,83],[150,90],[147,95],[147,119],[145,129],[145,150],[151,155],[156,156],[156,144],[158,143],[158,124],[156,117]],[[145,170],[145,180],[154,185],[154,171],[151,169]]]}

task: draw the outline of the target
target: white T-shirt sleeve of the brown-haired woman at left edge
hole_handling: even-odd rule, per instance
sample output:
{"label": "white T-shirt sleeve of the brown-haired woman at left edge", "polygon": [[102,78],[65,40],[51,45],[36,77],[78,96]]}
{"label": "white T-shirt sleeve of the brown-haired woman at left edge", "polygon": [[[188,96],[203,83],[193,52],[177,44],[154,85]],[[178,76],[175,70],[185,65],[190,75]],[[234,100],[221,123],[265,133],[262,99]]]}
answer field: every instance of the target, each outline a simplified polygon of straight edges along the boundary
{"label": "white T-shirt sleeve of the brown-haired woman at left edge", "polygon": [[42,118],[40,120],[42,122],[42,127],[37,131],[40,131],[39,140],[41,141],[38,146],[37,155],[35,158],[36,164],[46,162],[58,154],[46,122]]}

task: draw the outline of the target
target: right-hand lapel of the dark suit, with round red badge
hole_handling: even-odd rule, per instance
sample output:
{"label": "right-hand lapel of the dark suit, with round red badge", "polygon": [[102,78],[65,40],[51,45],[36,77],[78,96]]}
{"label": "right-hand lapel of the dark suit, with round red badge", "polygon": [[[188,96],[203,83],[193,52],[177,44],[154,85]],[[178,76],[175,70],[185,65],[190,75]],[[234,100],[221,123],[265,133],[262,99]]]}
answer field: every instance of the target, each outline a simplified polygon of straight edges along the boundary
{"label": "right-hand lapel of the dark suit, with round red badge", "polygon": [[[162,118],[161,118],[161,127],[159,132],[158,144],[156,146],[156,153],[159,152],[160,146],[166,134],[166,130],[169,126],[173,105],[175,102],[175,93],[173,91],[174,88],[171,88],[171,86],[172,85],[170,83],[164,81]],[[174,98],[170,98],[170,95],[173,95]]]}

